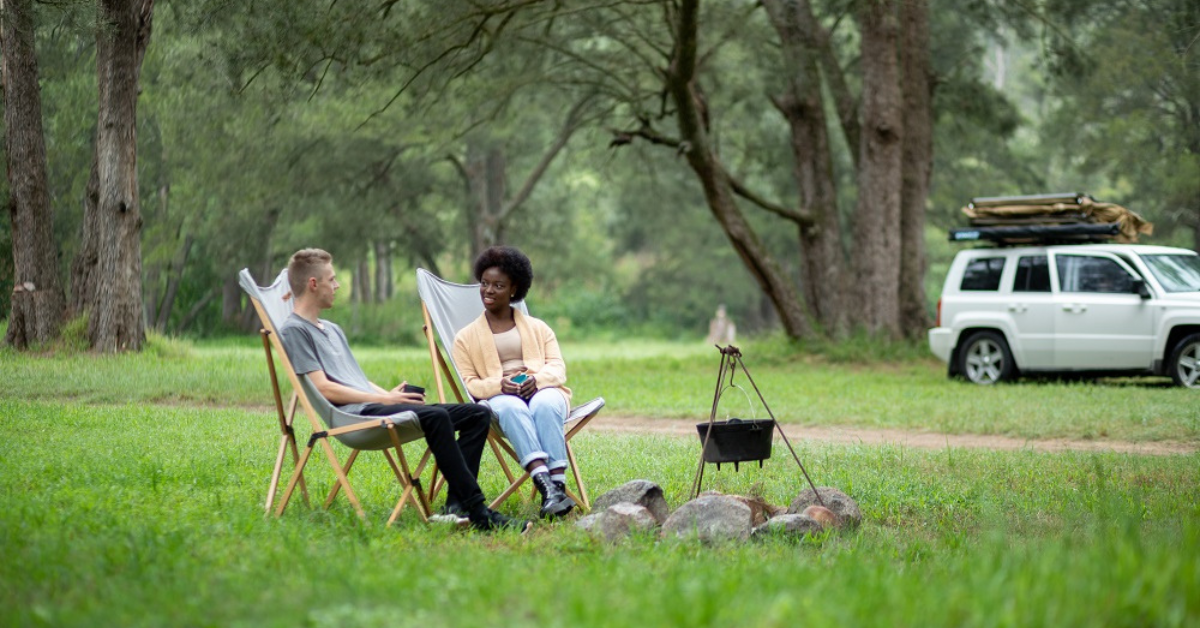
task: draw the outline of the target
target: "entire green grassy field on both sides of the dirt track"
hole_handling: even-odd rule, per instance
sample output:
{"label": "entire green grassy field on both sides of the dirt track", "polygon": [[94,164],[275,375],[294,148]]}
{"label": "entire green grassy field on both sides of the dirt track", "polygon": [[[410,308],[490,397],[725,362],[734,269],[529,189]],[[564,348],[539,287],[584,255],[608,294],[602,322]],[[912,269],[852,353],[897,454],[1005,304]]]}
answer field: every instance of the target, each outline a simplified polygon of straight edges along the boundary
{"label": "entire green grassy field on both sides of the dirt track", "polygon": [[[714,349],[566,351],[576,394],[602,394],[606,414],[707,418]],[[776,417],[794,423],[1132,441],[1200,433],[1194,391],[1152,381],[978,389],[928,360],[757,353],[761,363],[748,349],[748,366]],[[431,383],[421,352],[362,358],[380,383],[400,373]],[[858,501],[859,530],[607,545],[570,521],[482,536],[424,526],[409,512],[385,528],[397,491],[379,460],[355,469],[366,524],[344,501],[329,512],[295,502],[284,518],[264,518],[277,436],[253,341],[158,341],[121,358],[0,352],[0,375],[4,626],[1200,622],[1200,455],[798,443],[818,484]],[[594,495],[647,478],[673,507],[686,500],[691,439],[586,433],[576,443]],[[314,497],[330,484],[316,462]],[[490,495],[498,478],[485,465]],[[774,503],[802,488],[781,455],[707,478],[706,488]]]}

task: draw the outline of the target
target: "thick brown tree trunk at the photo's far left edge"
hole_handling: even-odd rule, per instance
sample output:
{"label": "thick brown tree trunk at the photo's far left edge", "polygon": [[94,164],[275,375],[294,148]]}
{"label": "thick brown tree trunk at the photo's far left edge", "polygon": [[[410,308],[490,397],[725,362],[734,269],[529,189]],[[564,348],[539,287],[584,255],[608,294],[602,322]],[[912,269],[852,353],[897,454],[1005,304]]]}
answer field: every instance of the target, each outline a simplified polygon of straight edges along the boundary
{"label": "thick brown tree trunk at the photo's far left edge", "polygon": [[5,342],[26,348],[58,336],[65,299],[46,179],[42,94],[30,0],[0,0],[4,121],[14,288]]}

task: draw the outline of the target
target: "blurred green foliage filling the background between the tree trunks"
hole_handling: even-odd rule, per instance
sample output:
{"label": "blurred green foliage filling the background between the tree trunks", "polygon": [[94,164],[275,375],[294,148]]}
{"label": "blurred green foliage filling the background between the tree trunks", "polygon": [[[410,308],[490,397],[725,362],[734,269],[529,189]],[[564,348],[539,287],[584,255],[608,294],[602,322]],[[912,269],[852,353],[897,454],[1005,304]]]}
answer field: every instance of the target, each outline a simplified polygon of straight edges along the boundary
{"label": "blurred green foliage filling the background between the tree trunks", "polygon": [[[662,6],[533,2],[500,24],[496,16],[512,6],[157,2],[138,137],[146,311],[157,312],[178,285],[162,329],[190,337],[240,330],[245,303],[223,289],[235,273],[272,277],[292,251],[318,245],[347,277],[360,262],[392,269],[396,297],[360,304],[355,337],[412,345],[412,269],[469,279],[470,195],[454,160],[463,162],[473,143],[504,146],[511,196],[584,95],[594,98],[586,126],[506,231],[506,241],[534,258],[535,310],[572,339],[695,337],[720,303],[742,331],[773,329],[774,313],[704,209],[684,160],[660,146],[611,146],[613,131],[670,116],[660,82],[670,44]],[[1181,46],[1195,35],[1187,6],[931,4],[938,112],[931,310],[937,268],[952,255],[941,229],[959,223],[958,208],[972,196],[1081,189],[1142,211],[1158,227],[1156,241],[1187,244],[1200,165],[1187,148],[1190,127],[1156,113],[1169,102],[1153,100],[1162,92],[1156,85],[1175,85],[1176,101],[1195,102],[1188,90],[1196,48]],[[839,55],[852,58],[856,29],[842,19],[852,7],[815,8]],[[38,4],[64,276],[92,159],[94,11],[90,2]],[[479,11],[497,13],[475,32]],[[708,2],[701,19],[722,159],[764,197],[796,198],[791,156],[779,140],[787,128],[764,97],[782,77],[763,62],[778,55],[763,12]],[[1074,41],[1062,40],[1063,23],[1074,25]],[[1078,78],[1068,67],[1080,70]],[[848,151],[839,145],[835,154],[844,210],[856,193]],[[6,187],[0,181],[0,199]],[[794,280],[794,228],[767,213],[749,219]],[[10,238],[0,221],[5,313]],[[374,241],[389,257],[377,257]]]}

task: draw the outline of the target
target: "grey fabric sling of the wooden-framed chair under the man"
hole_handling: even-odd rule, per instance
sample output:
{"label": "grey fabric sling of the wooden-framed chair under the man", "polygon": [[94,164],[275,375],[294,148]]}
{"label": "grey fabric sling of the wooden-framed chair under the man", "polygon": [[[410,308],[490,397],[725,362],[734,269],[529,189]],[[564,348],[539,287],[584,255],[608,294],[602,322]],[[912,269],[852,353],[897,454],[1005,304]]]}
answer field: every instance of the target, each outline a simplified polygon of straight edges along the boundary
{"label": "grey fabric sling of the wooden-framed chair under the man", "polygon": [[[264,287],[254,281],[248,269],[242,269],[238,274],[238,283],[241,286],[241,289],[246,291],[246,294],[250,294],[263,305],[263,310],[266,311],[266,316],[270,318],[271,329],[269,331],[278,336],[280,327],[283,325],[283,321],[292,315],[293,310],[292,288],[288,286],[288,270],[284,268],[270,286]],[[283,346],[282,340],[278,346]],[[290,359],[287,363],[287,369],[292,369]],[[390,421],[395,425],[396,436],[400,437],[401,443],[425,437],[425,432],[421,431],[421,424],[414,412],[401,412],[388,417],[365,417],[362,414],[342,412],[317,390],[317,387],[313,385],[307,376],[299,375],[298,379],[300,381],[300,387],[304,389],[302,394],[308,399],[308,403],[312,405],[313,409],[320,415],[322,421],[329,429],[343,427],[362,421]],[[378,450],[392,447],[391,436],[388,435],[388,430],[361,430],[337,435],[335,438],[353,449]]]}

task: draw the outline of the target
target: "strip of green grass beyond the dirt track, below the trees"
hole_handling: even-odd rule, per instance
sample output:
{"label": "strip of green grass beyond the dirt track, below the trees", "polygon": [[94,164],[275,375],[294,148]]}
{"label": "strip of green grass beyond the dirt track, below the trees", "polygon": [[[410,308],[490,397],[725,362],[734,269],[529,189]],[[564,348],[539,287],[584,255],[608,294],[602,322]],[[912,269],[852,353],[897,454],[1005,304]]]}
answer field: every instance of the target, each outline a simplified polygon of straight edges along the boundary
{"label": "strip of green grass beyond the dirt track, below the trees", "polygon": [[[712,347],[629,341],[571,343],[564,352],[575,399],[602,395],[607,415],[708,419],[719,365]],[[1162,378],[1022,381],[986,388],[947,379],[944,365],[931,358],[844,361],[766,343],[745,352],[750,375],[784,423],[1034,439],[1200,441],[1195,391],[1171,388]],[[433,390],[426,349],[364,348],[356,354],[380,384],[394,385],[403,378]],[[151,339],[145,353],[121,357],[61,352],[29,359],[0,352],[0,360],[6,388],[22,399],[271,403],[257,337],[214,346]],[[764,418],[745,377],[738,373],[734,383],[752,403],[738,389],[728,389],[719,415]]]}

